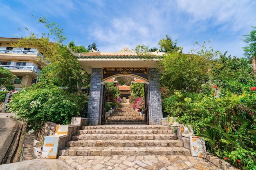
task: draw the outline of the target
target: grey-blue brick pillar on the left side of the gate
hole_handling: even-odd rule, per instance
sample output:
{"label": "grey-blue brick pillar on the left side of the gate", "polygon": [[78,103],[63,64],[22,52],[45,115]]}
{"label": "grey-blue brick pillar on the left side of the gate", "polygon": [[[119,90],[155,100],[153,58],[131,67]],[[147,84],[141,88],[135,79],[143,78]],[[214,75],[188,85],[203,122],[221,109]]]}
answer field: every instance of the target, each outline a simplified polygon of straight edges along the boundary
{"label": "grey-blue brick pillar on the left side of the gate", "polygon": [[101,124],[101,68],[92,68],[91,85],[88,101],[89,125]]}

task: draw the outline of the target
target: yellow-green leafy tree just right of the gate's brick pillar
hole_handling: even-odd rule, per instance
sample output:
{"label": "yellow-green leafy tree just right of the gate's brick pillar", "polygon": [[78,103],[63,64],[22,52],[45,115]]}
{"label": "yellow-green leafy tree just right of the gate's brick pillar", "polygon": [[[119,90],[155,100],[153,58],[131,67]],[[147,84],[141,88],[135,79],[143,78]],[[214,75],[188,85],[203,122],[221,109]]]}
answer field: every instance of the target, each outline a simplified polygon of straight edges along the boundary
{"label": "yellow-green leafy tree just right of the gate's brick pillar", "polygon": [[164,69],[161,84],[169,89],[196,92],[209,79],[207,63],[207,59],[195,54],[168,53],[159,61],[160,70]]}

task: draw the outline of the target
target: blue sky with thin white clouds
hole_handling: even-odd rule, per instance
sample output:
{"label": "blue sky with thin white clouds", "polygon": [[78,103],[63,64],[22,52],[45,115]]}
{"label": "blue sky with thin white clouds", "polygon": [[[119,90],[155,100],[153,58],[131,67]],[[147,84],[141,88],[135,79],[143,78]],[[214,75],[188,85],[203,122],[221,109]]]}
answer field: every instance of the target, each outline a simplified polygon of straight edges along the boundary
{"label": "blue sky with thin white clouds", "polygon": [[[47,32],[31,17],[46,17],[63,28],[68,44],[96,42],[101,52],[137,44],[159,47],[169,35],[187,53],[193,43],[243,57],[243,35],[256,26],[255,0],[0,0],[0,37]],[[22,32],[18,30],[22,29]]]}

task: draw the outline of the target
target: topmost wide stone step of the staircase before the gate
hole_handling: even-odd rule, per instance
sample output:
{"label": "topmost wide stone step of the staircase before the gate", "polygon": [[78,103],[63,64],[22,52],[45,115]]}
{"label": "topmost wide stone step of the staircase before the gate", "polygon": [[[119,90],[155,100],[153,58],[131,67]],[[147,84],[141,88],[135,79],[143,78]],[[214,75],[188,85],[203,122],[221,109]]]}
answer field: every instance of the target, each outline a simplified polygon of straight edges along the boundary
{"label": "topmost wide stone step of the staircase before the gate", "polygon": [[[81,129],[139,129],[139,130],[145,130],[145,129],[162,129],[166,130],[169,129],[168,126],[162,126],[162,125],[97,125],[97,126],[81,126]],[[170,130],[171,131],[171,130]]]}

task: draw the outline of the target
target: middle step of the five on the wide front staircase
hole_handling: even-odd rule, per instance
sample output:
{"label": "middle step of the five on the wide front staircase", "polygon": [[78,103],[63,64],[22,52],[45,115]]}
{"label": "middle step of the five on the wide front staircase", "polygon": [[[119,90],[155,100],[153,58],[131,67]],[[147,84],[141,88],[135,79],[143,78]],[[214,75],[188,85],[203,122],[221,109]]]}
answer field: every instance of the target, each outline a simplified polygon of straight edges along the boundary
{"label": "middle step of the five on the wide front staircase", "polygon": [[72,140],[176,140],[173,134],[83,134],[74,135]]}

